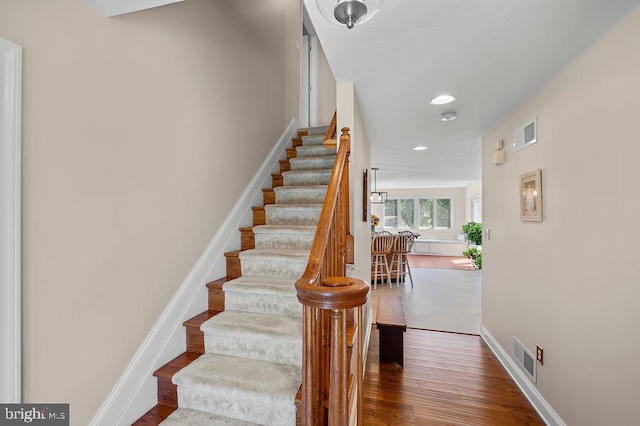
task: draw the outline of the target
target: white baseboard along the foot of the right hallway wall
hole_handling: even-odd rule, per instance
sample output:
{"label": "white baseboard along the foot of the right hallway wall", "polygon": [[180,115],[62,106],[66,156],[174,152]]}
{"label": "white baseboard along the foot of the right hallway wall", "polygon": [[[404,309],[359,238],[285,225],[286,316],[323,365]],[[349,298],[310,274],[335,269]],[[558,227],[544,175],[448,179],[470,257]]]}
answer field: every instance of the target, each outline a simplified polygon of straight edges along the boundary
{"label": "white baseboard along the foot of the right hallway wall", "polygon": [[542,417],[545,424],[549,426],[566,426],[558,413],[556,413],[553,407],[542,397],[535,385],[531,383],[531,380],[525,376],[522,370],[520,370],[520,367],[518,367],[515,361],[483,324],[480,324],[480,336],[482,336],[504,369],[507,370],[507,373],[509,373],[513,381],[516,382],[516,385],[518,385],[522,393],[524,393],[524,396],[529,400],[533,408],[538,412],[540,417]]}

